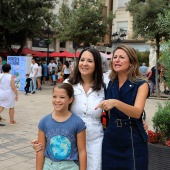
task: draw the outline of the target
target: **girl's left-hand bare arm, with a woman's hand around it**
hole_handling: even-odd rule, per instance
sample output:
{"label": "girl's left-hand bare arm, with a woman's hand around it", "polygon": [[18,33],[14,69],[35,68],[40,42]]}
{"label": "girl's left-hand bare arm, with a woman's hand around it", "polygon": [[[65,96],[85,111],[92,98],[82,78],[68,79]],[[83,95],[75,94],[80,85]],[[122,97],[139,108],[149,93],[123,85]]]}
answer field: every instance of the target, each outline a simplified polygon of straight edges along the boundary
{"label": "girl's left-hand bare arm, with a woman's hand around it", "polygon": [[44,150],[45,150],[45,134],[41,130],[38,130],[38,143],[42,143],[42,150],[37,152],[36,155],[36,170],[42,170],[44,166]]}

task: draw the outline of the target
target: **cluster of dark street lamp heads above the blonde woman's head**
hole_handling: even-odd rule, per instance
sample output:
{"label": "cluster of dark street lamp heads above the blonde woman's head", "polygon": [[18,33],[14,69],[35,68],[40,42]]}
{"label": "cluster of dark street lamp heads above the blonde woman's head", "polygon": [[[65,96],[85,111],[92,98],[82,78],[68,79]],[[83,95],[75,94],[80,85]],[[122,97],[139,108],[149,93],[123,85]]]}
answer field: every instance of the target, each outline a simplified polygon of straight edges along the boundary
{"label": "cluster of dark street lamp heads above the blonde woman's head", "polygon": [[125,41],[126,38],[126,30],[120,28],[118,32],[112,34],[112,43],[122,43]]}

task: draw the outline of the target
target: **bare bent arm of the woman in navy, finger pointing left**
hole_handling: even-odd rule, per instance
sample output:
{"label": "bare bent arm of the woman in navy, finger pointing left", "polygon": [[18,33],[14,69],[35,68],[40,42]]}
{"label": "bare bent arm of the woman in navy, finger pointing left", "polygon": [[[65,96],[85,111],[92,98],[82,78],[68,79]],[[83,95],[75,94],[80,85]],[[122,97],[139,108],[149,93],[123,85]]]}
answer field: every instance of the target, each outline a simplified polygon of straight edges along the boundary
{"label": "bare bent arm of the woman in navy, finger pointing left", "polygon": [[113,107],[116,107],[127,116],[139,119],[144,110],[148,91],[149,86],[147,83],[144,83],[139,87],[134,106],[123,103],[116,99],[109,99],[102,101],[95,109],[100,107],[103,110],[110,110]]}

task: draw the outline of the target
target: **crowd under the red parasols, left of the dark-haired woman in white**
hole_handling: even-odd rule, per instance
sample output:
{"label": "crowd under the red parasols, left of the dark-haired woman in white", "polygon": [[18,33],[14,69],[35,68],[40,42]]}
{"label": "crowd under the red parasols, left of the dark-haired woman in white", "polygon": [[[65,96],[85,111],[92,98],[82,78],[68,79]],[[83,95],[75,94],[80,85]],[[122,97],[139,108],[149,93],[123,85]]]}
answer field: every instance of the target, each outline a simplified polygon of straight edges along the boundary
{"label": "crowd under the red parasols, left of the dark-haired woman in white", "polygon": [[[35,94],[36,90],[42,90],[43,84],[46,84],[47,82],[50,82],[51,86],[55,86],[57,82],[63,82],[69,77],[73,68],[73,60],[66,60],[62,63],[60,60],[51,59],[47,64],[46,61],[32,58],[30,72],[26,74],[25,94]],[[28,80],[30,82],[28,82]],[[27,88],[28,86],[29,90]]]}

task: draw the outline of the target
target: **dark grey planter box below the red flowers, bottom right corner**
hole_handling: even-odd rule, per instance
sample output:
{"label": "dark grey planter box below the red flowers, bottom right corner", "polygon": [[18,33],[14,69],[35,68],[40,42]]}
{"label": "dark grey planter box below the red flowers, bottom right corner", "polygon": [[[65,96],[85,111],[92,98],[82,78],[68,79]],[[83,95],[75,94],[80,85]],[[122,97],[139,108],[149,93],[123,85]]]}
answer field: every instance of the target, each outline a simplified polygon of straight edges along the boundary
{"label": "dark grey planter box below the red flowers, bottom right corner", "polygon": [[170,147],[148,143],[148,170],[170,170]]}

